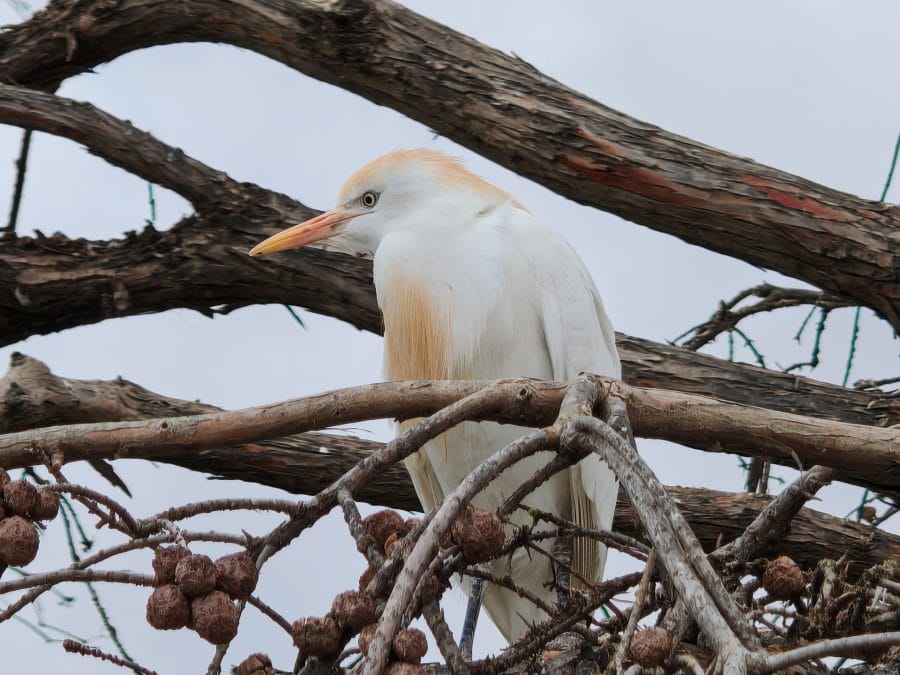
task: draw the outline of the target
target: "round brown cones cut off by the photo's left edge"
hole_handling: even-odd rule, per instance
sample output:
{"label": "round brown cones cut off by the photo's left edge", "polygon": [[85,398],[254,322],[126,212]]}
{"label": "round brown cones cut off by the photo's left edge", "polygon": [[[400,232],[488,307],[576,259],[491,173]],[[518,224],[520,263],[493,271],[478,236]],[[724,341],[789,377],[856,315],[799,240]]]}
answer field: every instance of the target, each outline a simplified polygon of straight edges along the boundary
{"label": "round brown cones cut off by the photo's left edge", "polygon": [[34,522],[53,520],[59,513],[55,492],[12,480],[0,469],[0,564],[27,565],[37,555],[40,538]]}

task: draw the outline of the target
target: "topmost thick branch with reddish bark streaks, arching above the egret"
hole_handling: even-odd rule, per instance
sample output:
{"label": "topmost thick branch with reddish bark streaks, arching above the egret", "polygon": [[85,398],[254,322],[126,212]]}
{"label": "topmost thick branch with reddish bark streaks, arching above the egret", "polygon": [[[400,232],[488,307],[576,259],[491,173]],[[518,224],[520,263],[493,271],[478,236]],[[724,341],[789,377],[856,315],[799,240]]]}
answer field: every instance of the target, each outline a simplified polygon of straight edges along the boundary
{"label": "topmost thick branch with reddish bark streaks, arching above the egret", "polygon": [[185,41],[269,56],[559,194],[850,297],[900,329],[897,207],[630,118],[387,0],[61,2],[4,34],[0,80],[52,88]]}

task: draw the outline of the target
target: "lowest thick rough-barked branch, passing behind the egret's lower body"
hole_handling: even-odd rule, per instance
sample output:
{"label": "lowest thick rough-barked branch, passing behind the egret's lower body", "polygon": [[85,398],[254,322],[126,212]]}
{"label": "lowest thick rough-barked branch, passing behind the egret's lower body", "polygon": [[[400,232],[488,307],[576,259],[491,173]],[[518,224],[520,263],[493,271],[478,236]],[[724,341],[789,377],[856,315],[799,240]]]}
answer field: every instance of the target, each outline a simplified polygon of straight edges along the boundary
{"label": "lowest thick rough-barked branch, passing behind the egret's lower body", "polygon": [[[218,408],[169,398],[126,380],[111,382],[62,378],[40,361],[17,355],[0,379],[0,433],[57,424],[113,422],[196,415]],[[381,443],[351,436],[308,432],[274,441],[215,448],[204,452],[161,454],[154,461],[244,480],[295,494],[313,495],[346,473]],[[740,536],[769,502],[763,495],[701,488],[667,487],[703,547],[712,551]],[[390,508],[421,510],[406,470],[387,467],[357,494],[362,501]],[[631,507],[620,494],[613,524],[617,532],[641,538]],[[814,567],[835,551],[847,552],[855,577],[865,568],[900,555],[900,537],[811,509],[792,520],[791,533],[772,552]]]}

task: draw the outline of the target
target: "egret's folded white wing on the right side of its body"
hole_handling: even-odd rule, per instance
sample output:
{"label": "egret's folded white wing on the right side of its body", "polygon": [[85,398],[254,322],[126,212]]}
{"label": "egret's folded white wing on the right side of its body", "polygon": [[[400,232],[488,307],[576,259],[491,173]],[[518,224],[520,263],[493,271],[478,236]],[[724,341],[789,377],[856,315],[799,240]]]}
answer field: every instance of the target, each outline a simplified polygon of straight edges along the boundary
{"label": "egret's folded white wing on the right side of its body", "polygon": [[[542,256],[551,256],[552,269],[540,284],[540,313],[553,378],[575,379],[580,372],[621,377],[615,333],[590,274],[569,244],[556,237],[545,242]],[[539,265],[539,269],[544,265]],[[572,519],[580,527],[609,529],[618,483],[596,455],[569,470]],[[588,580],[600,577],[606,547],[576,538],[572,567]],[[577,579],[573,578],[576,587]]]}

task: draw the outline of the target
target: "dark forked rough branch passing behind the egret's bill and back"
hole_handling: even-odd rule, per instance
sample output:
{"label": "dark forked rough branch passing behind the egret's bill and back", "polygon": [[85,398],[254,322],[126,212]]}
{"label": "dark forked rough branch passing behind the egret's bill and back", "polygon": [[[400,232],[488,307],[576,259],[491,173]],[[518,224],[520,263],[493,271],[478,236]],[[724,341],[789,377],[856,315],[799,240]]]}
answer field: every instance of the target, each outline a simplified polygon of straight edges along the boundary
{"label": "dark forked rough branch passing behind the egret's bill and back", "polygon": [[[73,241],[54,235],[0,242],[6,263],[0,266],[0,341],[8,344],[112,316],[173,307],[212,314],[264,302],[300,305],[380,330],[370,262],[301,250],[261,265],[245,255],[263,234],[313,213],[304,205],[238,183],[90,105],[4,85],[0,91],[7,96],[0,100],[0,117],[5,111],[20,122],[89,141],[97,154],[207,210],[167,232],[148,227],[125,240]],[[167,274],[160,275],[160,269]],[[317,280],[324,277],[331,283],[321,287]],[[790,398],[775,407],[863,424],[900,421],[900,400],[882,392],[850,394],[626,336],[619,336],[619,348],[626,379],[638,384],[646,380],[651,386],[751,404],[765,401],[767,407],[773,399]]]}

